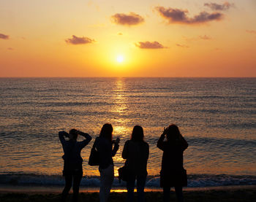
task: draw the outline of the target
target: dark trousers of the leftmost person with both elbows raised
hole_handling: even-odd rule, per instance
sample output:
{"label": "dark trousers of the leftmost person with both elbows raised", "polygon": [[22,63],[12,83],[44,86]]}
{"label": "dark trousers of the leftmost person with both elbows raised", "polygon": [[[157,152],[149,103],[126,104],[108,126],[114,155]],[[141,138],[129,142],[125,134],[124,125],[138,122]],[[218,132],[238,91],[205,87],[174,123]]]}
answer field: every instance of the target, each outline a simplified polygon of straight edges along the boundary
{"label": "dark trousers of the leftmost person with both elbows raised", "polygon": [[70,188],[72,187],[73,181],[73,199],[72,201],[78,201],[79,186],[83,176],[83,170],[64,171],[65,176],[65,187],[62,191],[61,201],[66,201],[67,195]]}

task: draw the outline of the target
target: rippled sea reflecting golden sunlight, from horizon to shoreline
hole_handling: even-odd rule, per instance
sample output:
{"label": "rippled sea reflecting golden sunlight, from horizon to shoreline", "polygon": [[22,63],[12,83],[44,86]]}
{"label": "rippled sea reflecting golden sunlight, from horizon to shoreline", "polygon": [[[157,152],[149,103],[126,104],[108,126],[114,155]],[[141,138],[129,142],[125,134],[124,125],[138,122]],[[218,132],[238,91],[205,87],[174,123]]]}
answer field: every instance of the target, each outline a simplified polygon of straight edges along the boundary
{"label": "rippled sea reflecting golden sunlight, from horizon to shoreline", "polygon": [[[62,184],[58,131],[96,138],[104,123],[121,139],[116,174],[124,142],[141,125],[150,145],[147,186],[157,187],[157,139],[176,123],[189,143],[190,187],[256,184],[256,78],[1,78],[0,104],[0,184]],[[86,186],[99,182],[87,163],[92,143],[82,152]]]}

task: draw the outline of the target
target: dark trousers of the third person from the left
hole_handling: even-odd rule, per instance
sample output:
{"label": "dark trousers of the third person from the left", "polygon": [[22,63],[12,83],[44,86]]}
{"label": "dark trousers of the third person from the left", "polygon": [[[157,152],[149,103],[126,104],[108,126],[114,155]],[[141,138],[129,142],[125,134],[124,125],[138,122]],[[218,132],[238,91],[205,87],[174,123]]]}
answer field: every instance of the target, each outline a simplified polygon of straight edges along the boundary
{"label": "dark trousers of the third person from the left", "polygon": [[137,179],[137,193],[138,193],[138,201],[144,202],[144,187],[146,184],[146,175],[143,176],[129,176],[129,180],[127,181],[127,201],[132,202],[134,199],[134,189],[135,189],[135,179]]}

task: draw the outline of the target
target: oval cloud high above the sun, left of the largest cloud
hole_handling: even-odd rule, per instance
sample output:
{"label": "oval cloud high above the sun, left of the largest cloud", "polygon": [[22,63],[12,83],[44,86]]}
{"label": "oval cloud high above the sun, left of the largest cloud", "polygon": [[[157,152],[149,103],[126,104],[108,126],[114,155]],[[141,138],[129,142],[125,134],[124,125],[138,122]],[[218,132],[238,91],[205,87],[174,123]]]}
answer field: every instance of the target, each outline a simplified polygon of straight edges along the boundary
{"label": "oval cloud high above the sun, left of the largest cloud", "polygon": [[130,12],[128,15],[124,13],[116,13],[116,15],[112,15],[111,18],[113,23],[122,26],[135,26],[145,21],[143,17],[134,12]]}

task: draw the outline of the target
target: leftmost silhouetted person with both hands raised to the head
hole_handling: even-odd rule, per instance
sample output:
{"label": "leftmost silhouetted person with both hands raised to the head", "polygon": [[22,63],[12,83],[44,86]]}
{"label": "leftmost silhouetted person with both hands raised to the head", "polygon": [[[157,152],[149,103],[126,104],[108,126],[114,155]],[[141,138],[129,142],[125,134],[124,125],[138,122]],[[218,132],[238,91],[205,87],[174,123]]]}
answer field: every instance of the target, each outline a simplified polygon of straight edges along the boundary
{"label": "leftmost silhouetted person with both hands raised to the head", "polygon": [[[77,141],[78,135],[84,136],[86,139],[83,141]],[[64,136],[69,138],[69,140],[65,140]],[[62,192],[61,201],[66,201],[73,181],[72,200],[75,202],[78,201],[79,185],[83,176],[83,158],[81,158],[80,152],[83,147],[86,147],[86,145],[89,144],[91,136],[87,133],[71,129],[69,133],[60,131],[59,140],[61,141],[64,150],[62,158],[64,159],[63,175],[65,176],[65,187]]]}

